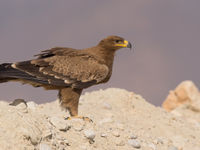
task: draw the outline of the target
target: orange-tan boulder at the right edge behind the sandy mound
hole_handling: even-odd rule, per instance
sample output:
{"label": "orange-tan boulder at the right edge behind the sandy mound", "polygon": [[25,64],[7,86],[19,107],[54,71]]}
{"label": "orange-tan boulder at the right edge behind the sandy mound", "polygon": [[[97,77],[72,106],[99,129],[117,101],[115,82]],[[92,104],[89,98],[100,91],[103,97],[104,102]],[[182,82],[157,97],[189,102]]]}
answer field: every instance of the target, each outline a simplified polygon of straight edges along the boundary
{"label": "orange-tan boulder at the right edge behind the sandy mound", "polygon": [[192,81],[184,81],[174,91],[170,91],[162,107],[171,111],[182,104],[194,104],[200,102],[200,93]]}

